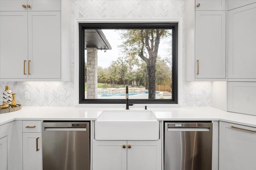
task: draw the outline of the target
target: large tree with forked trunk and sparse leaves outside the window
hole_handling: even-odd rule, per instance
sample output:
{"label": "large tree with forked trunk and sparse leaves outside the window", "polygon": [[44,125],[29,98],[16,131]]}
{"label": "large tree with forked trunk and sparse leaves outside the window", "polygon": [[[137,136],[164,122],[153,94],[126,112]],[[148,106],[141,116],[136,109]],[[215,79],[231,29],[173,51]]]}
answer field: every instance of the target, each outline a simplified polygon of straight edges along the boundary
{"label": "large tree with forked trunk and sparse leaves outside the window", "polygon": [[[147,64],[148,98],[156,98],[156,58],[160,39],[166,29],[126,29],[121,31],[124,40],[120,46],[128,56],[139,56]],[[145,50],[146,49],[146,50]]]}

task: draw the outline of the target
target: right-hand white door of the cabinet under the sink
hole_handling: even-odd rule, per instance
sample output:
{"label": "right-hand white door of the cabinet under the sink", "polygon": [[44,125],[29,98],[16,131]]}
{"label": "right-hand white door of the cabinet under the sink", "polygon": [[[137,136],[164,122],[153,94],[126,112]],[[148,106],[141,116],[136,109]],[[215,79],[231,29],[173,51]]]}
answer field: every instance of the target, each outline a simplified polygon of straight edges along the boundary
{"label": "right-hand white door of the cabinet under the sink", "polygon": [[161,146],[161,140],[127,141],[127,170],[162,170]]}

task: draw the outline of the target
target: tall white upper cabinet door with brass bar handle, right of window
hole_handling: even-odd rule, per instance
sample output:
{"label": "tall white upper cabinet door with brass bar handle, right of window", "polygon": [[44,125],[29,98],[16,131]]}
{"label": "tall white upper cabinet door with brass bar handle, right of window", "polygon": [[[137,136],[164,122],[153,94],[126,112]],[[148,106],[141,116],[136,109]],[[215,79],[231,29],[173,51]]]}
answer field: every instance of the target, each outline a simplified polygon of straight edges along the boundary
{"label": "tall white upper cabinet door with brass bar handle, right of window", "polygon": [[196,78],[226,78],[226,11],[196,11]]}

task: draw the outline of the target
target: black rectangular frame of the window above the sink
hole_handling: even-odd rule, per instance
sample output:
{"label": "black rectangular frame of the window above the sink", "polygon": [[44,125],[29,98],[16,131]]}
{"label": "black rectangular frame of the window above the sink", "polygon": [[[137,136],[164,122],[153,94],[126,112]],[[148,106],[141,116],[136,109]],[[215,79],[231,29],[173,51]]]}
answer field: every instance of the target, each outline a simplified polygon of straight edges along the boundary
{"label": "black rectangular frame of the window above the sink", "polygon": [[85,29],[172,29],[172,99],[129,99],[129,101],[134,104],[178,104],[178,23],[79,23],[79,104],[125,104],[125,98],[84,98]]}

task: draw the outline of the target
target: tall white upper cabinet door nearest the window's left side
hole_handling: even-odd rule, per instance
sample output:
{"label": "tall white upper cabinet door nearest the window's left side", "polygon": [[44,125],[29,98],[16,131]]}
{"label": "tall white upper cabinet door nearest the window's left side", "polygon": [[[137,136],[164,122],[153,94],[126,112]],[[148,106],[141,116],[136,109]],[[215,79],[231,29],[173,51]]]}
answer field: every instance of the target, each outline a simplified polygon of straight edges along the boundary
{"label": "tall white upper cabinet door nearest the window's left side", "polygon": [[60,12],[28,12],[28,78],[60,78]]}

